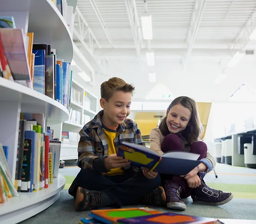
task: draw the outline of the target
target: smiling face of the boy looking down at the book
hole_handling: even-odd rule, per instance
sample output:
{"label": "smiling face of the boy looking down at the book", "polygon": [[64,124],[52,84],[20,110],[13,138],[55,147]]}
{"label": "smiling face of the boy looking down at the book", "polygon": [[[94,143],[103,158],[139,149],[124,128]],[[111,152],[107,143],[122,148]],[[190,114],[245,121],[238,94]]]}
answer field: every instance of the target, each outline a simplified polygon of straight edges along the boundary
{"label": "smiling face of the boy looking down at the book", "polygon": [[116,91],[108,101],[100,99],[101,107],[104,109],[102,123],[105,126],[115,127],[121,125],[130,114],[132,93]]}

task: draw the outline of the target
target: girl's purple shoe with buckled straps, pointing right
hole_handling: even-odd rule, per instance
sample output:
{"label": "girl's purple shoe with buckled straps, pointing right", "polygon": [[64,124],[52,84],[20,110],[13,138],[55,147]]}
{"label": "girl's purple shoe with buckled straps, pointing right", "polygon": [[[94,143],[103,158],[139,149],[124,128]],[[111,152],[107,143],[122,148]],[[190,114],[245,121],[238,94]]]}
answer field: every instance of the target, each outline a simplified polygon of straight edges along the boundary
{"label": "girl's purple shoe with buckled straps, pointing right", "polygon": [[201,185],[192,190],[191,198],[193,199],[193,202],[200,202],[208,205],[224,205],[232,200],[233,194],[210,188],[202,179]]}

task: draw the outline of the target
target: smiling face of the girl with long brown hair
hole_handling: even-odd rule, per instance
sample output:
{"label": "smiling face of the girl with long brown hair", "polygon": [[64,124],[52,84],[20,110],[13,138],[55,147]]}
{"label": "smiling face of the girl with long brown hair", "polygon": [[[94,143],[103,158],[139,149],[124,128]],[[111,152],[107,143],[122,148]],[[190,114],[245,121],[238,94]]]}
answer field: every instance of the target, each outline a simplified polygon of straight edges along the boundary
{"label": "smiling face of the girl with long brown hair", "polygon": [[168,112],[166,125],[172,134],[179,133],[187,127],[190,122],[191,112],[180,103],[174,105]]}

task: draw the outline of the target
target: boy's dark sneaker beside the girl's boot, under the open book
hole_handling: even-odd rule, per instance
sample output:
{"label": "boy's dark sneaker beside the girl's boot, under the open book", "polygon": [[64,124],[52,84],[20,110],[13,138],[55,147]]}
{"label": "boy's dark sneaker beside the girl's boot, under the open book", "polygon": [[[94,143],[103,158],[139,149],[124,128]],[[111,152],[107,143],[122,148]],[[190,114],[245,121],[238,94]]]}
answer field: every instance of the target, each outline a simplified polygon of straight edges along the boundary
{"label": "boy's dark sneaker beside the girl's boot, under the open book", "polygon": [[147,194],[142,198],[142,204],[152,206],[164,206],[166,203],[165,192],[163,187],[159,186],[153,190],[150,194]]}

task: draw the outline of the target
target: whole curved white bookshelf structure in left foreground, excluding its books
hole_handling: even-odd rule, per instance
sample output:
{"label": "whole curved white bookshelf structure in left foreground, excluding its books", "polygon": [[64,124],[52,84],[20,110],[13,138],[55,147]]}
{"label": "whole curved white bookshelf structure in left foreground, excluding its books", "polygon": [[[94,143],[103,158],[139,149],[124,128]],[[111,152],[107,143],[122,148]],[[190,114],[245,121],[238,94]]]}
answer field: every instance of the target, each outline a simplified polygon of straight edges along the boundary
{"label": "whole curved white bookshelf structure in left foreground, excluding its books", "polygon": [[[77,0],[70,1],[77,3]],[[70,30],[51,0],[0,0],[0,16],[13,16],[16,28],[23,29],[24,36],[33,32],[33,43],[51,44],[58,58],[71,62]],[[8,166],[14,181],[20,113],[44,113],[46,127],[68,121],[69,111],[54,99],[4,78],[0,78],[0,105],[0,143],[9,146]],[[59,197],[65,182],[58,175],[47,189],[9,198],[0,204],[0,223],[18,223],[48,208]]]}

